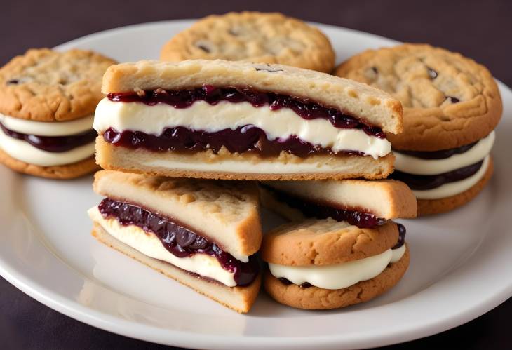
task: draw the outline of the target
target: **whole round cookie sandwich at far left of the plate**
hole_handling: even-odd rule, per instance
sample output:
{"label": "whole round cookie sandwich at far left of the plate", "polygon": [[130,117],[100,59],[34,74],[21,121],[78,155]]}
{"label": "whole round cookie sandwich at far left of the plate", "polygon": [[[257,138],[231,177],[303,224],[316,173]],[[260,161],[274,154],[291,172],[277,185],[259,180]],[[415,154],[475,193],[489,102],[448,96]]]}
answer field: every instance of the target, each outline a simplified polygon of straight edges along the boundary
{"label": "whole round cookie sandwich at far left of the plate", "polygon": [[0,162],[67,179],[97,169],[95,107],[116,62],[93,51],[31,49],[0,68]]}

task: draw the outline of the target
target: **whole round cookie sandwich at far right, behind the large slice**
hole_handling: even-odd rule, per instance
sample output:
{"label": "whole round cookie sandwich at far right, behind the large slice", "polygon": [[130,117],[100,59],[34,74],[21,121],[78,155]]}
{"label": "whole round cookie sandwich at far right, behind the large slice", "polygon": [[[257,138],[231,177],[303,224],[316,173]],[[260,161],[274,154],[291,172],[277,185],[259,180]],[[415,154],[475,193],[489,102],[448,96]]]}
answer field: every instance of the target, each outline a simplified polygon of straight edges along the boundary
{"label": "whole round cookie sandwich at far right, behind the large slice", "polygon": [[405,44],[365,51],[335,74],[402,102],[404,131],[389,135],[396,156],[391,177],[413,190],[419,215],[462,206],[485,187],[503,110],[487,68],[443,48]]}

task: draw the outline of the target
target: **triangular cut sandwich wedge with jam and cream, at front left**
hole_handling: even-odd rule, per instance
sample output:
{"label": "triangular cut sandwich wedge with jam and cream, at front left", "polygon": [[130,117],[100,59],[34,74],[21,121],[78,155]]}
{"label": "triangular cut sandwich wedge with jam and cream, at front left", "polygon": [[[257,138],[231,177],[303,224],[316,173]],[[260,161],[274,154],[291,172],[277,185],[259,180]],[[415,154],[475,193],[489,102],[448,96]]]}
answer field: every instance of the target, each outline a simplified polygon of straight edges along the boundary
{"label": "triangular cut sandwich wedge with jam and cream, at front left", "polygon": [[88,210],[93,236],[238,312],[260,288],[262,240],[255,184],[102,170]]}

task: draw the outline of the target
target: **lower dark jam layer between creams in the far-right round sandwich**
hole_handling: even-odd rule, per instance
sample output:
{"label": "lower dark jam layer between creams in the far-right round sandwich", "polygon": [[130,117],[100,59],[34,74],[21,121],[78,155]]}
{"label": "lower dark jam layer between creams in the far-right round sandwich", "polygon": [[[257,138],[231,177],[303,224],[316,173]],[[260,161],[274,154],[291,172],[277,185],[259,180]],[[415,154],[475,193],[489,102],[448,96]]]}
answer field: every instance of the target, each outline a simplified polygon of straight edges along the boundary
{"label": "lower dark jam layer between creams in the far-right round sandwich", "polygon": [[405,182],[410,189],[435,189],[443,184],[464,180],[471,175],[475,175],[482,166],[482,163],[483,161],[479,161],[471,166],[465,166],[464,168],[459,168],[439,175],[413,175],[395,170],[394,173],[389,175],[389,177],[394,180]]}

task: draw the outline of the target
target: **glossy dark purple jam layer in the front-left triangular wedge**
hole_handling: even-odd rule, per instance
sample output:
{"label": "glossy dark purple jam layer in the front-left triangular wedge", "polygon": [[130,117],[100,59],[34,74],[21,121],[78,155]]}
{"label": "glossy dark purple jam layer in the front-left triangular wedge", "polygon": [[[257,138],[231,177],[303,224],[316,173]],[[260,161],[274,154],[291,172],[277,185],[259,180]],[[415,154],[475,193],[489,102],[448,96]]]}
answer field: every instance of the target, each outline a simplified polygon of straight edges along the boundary
{"label": "glossy dark purple jam layer in the front-left triangular wedge", "polygon": [[175,220],[151,213],[140,206],[105,198],[98,208],[103,217],[114,217],[122,225],[135,225],[154,233],[163,246],[177,257],[189,257],[196,253],[215,257],[224,269],[234,272],[236,285],[249,285],[260,270],[254,255],[249,257],[249,262],[236,260],[207,238],[190,231]]}

